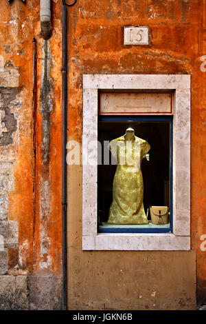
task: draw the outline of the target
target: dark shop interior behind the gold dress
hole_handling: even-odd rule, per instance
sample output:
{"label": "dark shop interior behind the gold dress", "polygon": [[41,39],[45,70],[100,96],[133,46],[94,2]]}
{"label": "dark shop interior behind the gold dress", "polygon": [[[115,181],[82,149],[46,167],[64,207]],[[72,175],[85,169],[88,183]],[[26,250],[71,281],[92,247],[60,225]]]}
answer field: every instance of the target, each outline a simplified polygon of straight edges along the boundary
{"label": "dark shop interior behind the gold dress", "polygon": [[[105,118],[104,118],[105,119]],[[109,117],[108,117],[109,119]],[[126,119],[126,117],[124,117]],[[142,118],[141,118],[142,119]],[[159,118],[160,119],[160,118]],[[135,136],[148,141],[151,146],[150,161],[143,159],[141,170],[144,179],[144,209],[150,205],[170,206],[170,121],[101,121],[98,122],[98,141],[111,141],[126,132],[135,130]],[[113,178],[116,165],[98,165],[98,219],[100,224],[108,220],[109,207],[113,199]],[[148,215],[150,220],[150,214]]]}

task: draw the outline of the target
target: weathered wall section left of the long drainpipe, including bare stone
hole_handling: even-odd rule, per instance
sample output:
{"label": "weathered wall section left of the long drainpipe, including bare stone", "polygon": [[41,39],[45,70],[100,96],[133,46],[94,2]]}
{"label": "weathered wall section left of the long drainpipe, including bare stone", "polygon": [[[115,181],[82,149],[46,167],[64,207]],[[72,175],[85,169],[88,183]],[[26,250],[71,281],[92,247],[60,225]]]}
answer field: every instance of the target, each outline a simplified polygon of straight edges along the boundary
{"label": "weathered wall section left of the long drainpipe, including bare stone", "polygon": [[2,2],[0,309],[60,309],[60,6],[43,41],[38,0]]}

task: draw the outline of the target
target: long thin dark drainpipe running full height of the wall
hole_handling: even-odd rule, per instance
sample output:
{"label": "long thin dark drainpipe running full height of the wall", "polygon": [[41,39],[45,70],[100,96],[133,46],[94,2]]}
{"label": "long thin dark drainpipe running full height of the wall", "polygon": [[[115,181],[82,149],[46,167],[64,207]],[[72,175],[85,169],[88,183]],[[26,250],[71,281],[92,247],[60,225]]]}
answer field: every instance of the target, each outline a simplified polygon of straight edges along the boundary
{"label": "long thin dark drainpipe running full height of the wall", "polygon": [[67,310],[67,4],[62,0],[62,310]]}

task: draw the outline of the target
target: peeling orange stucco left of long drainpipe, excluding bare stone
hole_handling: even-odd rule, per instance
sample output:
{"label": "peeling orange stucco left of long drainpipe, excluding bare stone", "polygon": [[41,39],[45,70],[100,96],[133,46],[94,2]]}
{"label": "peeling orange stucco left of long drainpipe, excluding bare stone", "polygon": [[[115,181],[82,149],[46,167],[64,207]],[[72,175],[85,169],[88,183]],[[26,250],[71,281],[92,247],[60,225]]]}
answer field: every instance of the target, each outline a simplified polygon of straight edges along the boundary
{"label": "peeling orange stucco left of long drainpipe, excluding bare stone", "polygon": [[[60,6],[52,1],[53,37],[48,43],[48,76],[43,83],[45,44],[41,38],[39,1],[24,5],[1,3],[1,49],[5,68],[19,69],[21,108],[17,138],[1,147],[14,162],[13,190],[9,192],[9,218],[19,222],[19,247],[8,250],[9,273],[38,270],[61,274],[61,76]],[[36,54],[35,43],[36,39]],[[49,83],[49,108],[41,93]],[[43,112],[49,110],[50,134],[43,130]],[[47,156],[44,154],[45,142]],[[6,150],[6,152],[5,152]],[[16,266],[14,269],[14,266]]]}

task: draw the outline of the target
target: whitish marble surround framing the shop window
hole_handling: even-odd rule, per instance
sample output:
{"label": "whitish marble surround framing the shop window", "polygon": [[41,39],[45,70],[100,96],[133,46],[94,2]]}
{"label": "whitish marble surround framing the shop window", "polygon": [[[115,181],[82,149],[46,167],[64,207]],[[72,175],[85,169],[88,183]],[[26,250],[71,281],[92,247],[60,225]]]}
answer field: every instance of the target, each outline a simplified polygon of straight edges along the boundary
{"label": "whitish marble surround framing the shop window", "polygon": [[[172,90],[173,232],[98,233],[98,150],[87,164],[87,143],[98,140],[98,90]],[[190,75],[84,74],[82,250],[190,250]]]}

